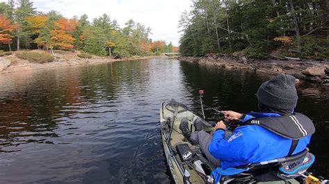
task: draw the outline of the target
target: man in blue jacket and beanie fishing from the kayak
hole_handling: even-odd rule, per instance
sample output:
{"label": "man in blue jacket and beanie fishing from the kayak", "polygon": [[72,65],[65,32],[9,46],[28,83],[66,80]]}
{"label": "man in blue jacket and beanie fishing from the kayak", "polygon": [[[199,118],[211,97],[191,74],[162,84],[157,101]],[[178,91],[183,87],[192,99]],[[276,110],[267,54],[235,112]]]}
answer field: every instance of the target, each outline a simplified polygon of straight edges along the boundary
{"label": "man in blue jacket and beanie fishing from the kayak", "polygon": [[187,140],[200,145],[212,165],[223,169],[303,151],[315,128],[309,118],[294,113],[298,100],[295,78],[285,74],[273,77],[260,86],[257,98],[259,113],[223,111],[228,120],[242,121],[230,136],[226,136],[226,125],[222,121],[217,122],[212,135],[201,130],[200,121],[194,124],[193,133],[185,119],[180,129]]}

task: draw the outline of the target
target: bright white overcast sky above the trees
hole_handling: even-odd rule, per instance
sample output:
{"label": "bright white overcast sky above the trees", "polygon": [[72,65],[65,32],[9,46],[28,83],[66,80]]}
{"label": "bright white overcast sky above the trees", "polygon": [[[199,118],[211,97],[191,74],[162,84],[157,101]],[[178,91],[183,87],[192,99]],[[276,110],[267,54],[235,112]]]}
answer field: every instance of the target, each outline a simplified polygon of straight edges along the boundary
{"label": "bright white overcast sky above the trees", "polygon": [[[3,0],[0,0],[3,1]],[[6,0],[4,0],[6,1]],[[31,0],[33,1],[33,0]],[[7,2],[7,1],[6,1]],[[190,10],[191,0],[34,0],[37,10],[57,10],[67,18],[87,14],[90,21],[103,13],[122,26],[129,19],[151,27],[153,40],[165,40],[178,46],[180,14]]]}

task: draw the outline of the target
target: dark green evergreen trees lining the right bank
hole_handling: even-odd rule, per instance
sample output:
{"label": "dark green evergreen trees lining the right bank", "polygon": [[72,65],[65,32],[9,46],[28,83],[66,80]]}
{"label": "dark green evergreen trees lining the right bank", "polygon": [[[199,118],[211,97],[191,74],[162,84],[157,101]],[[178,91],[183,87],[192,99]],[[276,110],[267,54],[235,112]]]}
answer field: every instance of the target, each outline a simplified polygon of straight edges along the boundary
{"label": "dark green evergreen trees lining the right bank", "polygon": [[194,0],[180,53],[328,58],[329,0]]}

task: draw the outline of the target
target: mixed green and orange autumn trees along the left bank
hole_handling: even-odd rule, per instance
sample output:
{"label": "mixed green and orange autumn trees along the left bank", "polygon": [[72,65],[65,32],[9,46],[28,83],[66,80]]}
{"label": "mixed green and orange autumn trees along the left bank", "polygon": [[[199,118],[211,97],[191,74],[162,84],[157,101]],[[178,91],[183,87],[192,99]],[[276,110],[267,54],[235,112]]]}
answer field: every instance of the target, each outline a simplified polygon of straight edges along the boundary
{"label": "mixed green and orange autumn trees along the left bank", "polygon": [[56,10],[37,11],[30,0],[0,3],[0,49],[83,50],[92,55],[128,57],[155,55],[177,49],[165,41],[152,41],[151,28],[128,20],[120,28],[103,14],[88,21],[87,15],[67,19]]}

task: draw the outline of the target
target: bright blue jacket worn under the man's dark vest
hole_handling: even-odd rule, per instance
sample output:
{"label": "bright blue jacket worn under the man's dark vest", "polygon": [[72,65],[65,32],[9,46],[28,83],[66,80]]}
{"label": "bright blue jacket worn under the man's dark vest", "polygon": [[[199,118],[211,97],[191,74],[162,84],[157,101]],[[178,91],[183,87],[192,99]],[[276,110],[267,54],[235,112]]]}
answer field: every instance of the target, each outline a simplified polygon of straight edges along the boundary
{"label": "bright blue jacket worn under the man's dark vest", "polygon": [[[277,113],[248,113],[244,121],[251,118],[276,117]],[[287,156],[292,140],[284,138],[257,125],[237,127],[233,134],[225,139],[221,129],[214,132],[209,151],[214,158],[221,160],[220,167],[237,167],[248,163],[259,163],[266,160]],[[310,143],[311,136],[299,140],[293,154],[303,151]]]}

